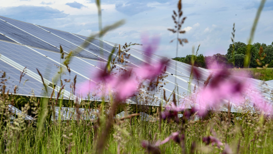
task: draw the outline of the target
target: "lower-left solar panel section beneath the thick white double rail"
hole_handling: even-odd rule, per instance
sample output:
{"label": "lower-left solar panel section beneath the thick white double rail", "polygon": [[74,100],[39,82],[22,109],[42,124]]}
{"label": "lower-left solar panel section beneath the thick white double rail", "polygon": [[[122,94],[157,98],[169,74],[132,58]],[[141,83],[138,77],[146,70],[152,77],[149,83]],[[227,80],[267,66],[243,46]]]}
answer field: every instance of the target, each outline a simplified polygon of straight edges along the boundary
{"label": "lower-left solar panel section beneath the thick white double rail", "polygon": [[[44,85],[41,82],[25,74],[19,84],[20,71],[0,60],[0,75],[2,75],[3,72],[6,73],[5,78],[8,79],[5,85],[9,92],[14,93],[14,86],[17,85],[19,87],[18,91],[16,91],[17,94],[32,95],[31,91],[33,90],[35,96],[43,96],[45,91],[42,90]],[[48,88],[48,92],[51,93],[52,89]]]}

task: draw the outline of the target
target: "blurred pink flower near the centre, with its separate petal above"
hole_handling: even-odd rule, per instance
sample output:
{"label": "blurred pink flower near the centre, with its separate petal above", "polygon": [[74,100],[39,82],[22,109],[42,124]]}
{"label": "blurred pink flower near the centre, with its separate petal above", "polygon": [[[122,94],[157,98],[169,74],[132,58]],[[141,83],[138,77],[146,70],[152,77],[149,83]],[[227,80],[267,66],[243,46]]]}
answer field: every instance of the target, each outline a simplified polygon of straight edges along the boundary
{"label": "blurred pink flower near the centre, with its separate petal above", "polygon": [[[148,37],[142,37],[144,51],[149,56],[156,50],[159,39],[153,38],[151,42],[148,40]],[[138,69],[120,69],[118,73],[109,73],[106,67],[103,66],[103,69],[92,72],[96,74],[91,79],[94,82],[88,81],[80,85],[80,87],[83,87],[80,92],[98,96],[112,94],[115,96],[116,101],[124,101],[138,92],[144,80],[153,80],[164,73],[167,62],[167,60],[162,60],[153,65],[145,63]]]}

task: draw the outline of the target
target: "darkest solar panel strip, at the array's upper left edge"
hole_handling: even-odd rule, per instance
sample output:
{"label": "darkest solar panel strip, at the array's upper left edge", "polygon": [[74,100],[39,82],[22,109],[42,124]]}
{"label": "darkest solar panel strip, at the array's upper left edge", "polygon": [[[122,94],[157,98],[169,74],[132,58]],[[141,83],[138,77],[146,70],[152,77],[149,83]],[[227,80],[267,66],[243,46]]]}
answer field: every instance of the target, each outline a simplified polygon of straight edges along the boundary
{"label": "darkest solar panel strip, at the array's upper left edge", "polygon": [[[2,18],[2,17],[0,17]],[[28,33],[19,30],[16,27],[13,27],[12,25],[9,25],[8,23],[0,20],[0,32],[5,34],[6,36],[12,38],[15,41],[18,41],[19,43],[34,46],[34,47],[40,47],[43,49],[58,51],[56,47],[53,47],[44,41],[41,41]]]}

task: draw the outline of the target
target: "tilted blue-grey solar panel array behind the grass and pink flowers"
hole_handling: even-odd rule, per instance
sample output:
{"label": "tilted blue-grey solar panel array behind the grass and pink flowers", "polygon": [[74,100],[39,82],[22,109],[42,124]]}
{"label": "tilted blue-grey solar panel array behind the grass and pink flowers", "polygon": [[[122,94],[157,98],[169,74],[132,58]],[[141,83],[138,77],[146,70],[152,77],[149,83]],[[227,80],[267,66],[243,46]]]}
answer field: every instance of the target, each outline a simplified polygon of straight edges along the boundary
{"label": "tilted blue-grey solar panel array behind the grass and pink flowers", "polygon": [[[59,67],[64,68],[64,73],[61,76],[62,79],[73,81],[77,75],[77,91],[83,88],[81,86],[83,86],[85,81],[91,79],[90,82],[94,82],[92,78],[95,76],[94,73],[100,69],[99,65],[106,63],[111,54],[115,57],[118,53],[115,44],[107,41],[90,40],[86,36],[29,24],[2,16],[0,16],[0,34],[0,71],[7,74],[7,88],[9,92],[14,93],[14,86],[19,85],[19,88],[16,90],[16,94],[18,95],[30,96],[34,93],[35,96],[45,96],[44,85],[37,69],[43,76],[45,84],[48,85],[47,89],[49,92],[47,95],[53,91],[52,85],[56,85],[54,91],[58,92],[61,87],[60,78],[56,77]],[[88,41],[87,46],[82,47],[83,42],[86,41]],[[69,64],[71,72],[68,72],[62,64],[64,59],[61,59],[60,45],[65,54],[68,54],[70,51],[77,51],[73,52],[72,60]],[[126,62],[131,67],[136,68],[143,63],[153,64],[166,60],[165,57],[154,54],[148,57],[143,51],[133,48],[125,52],[125,54],[130,54],[130,58],[126,59]],[[164,81],[167,83],[163,85],[162,89],[166,91],[167,97],[171,96],[176,86],[175,80],[177,80],[179,91],[175,91],[175,93],[184,98],[185,94],[192,92],[189,91],[190,70],[192,66],[176,62],[173,59],[168,60],[166,70],[166,75],[168,76],[164,77]],[[175,72],[176,63],[177,72]],[[116,64],[116,67],[125,68],[120,62]],[[203,68],[196,69],[201,72],[201,77],[199,80],[191,80],[191,90],[202,86],[210,74],[210,70]],[[26,75],[21,79],[19,84],[20,74],[23,70],[26,72]],[[272,82],[267,82],[267,85],[265,85],[260,80],[250,78],[246,78],[246,80],[254,82],[259,91],[263,91],[265,88],[273,89]],[[71,92],[70,83],[64,83],[67,84],[64,90],[64,98],[66,99],[76,98]],[[142,91],[145,90],[143,89]],[[149,95],[158,98],[157,101],[151,102],[149,105],[159,106],[161,102],[164,102],[162,100],[162,91],[150,91]],[[264,99],[271,97],[268,92],[264,92],[263,95],[265,96]],[[88,95],[81,93],[80,97],[87,99]],[[100,100],[99,97],[92,97],[92,99]],[[128,99],[128,103],[136,103],[136,101],[134,101],[134,98],[131,98]],[[56,111],[58,110],[56,109]],[[221,110],[227,111],[227,108],[222,107]],[[236,109],[232,108],[232,110],[235,111]],[[65,112],[65,114],[67,113]]]}

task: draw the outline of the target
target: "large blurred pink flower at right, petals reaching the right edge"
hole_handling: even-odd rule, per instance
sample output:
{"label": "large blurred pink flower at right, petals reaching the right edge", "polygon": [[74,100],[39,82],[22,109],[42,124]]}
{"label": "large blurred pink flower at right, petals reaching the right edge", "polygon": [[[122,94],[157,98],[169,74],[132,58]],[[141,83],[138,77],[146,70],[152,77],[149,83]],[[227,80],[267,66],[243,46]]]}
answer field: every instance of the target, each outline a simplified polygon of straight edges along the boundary
{"label": "large blurred pink flower at right, petals reaching the right edge", "polygon": [[199,114],[205,114],[207,109],[217,110],[228,102],[239,107],[244,105],[246,99],[265,113],[272,113],[272,106],[246,77],[248,76],[244,72],[236,74],[228,69],[213,70],[208,85],[196,95],[195,107],[204,109],[200,110]]}

